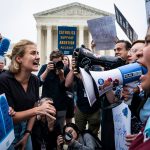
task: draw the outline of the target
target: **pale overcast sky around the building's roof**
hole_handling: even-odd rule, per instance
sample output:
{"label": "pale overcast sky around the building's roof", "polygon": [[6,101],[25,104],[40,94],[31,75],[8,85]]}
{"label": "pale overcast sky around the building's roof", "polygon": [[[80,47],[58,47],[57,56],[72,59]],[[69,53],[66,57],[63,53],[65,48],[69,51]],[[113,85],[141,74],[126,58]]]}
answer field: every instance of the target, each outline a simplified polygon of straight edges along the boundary
{"label": "pale overcast sky around the building's roof", "polygon": [[[37,40],[33,14],[73,2],[114,13],[114,4],[143,39],[147,31],[145,0],[0,0],[0,33],[12,43],[21,39]],[[127,39],[116,23],[119,39]]]}

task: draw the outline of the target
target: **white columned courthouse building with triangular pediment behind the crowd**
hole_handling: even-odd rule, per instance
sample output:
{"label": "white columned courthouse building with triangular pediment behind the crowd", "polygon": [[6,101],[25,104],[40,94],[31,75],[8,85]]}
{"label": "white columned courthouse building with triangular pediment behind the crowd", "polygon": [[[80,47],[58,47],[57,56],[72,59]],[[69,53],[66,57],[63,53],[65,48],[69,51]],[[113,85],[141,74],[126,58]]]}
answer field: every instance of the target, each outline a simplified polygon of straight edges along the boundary
{"label": "white columned courthouse building with triangular pediment behind the crowd", "polygon": [[[84,44],[91,49],[92,36],[87,20],[112,15],[81,3],[71,3],[34,14],[37,23],[37,46],[41,64],[46,63],[52,50],[58,48],[58,26],[77,27],[76,46]],[[112,51],[95,51],[111,55]]]}

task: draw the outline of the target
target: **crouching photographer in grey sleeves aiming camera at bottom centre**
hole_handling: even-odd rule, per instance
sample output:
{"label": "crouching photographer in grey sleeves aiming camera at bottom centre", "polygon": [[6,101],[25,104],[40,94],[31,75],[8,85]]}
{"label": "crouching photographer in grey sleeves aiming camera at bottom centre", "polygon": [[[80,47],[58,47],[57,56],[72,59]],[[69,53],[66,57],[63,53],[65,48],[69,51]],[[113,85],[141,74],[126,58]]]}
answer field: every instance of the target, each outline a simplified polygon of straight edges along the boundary
{"label": "crouching photographer in grey sleeves aiming camera at bottom centre", "polygon": [[64,142],[68,145],[68,150],[101,150],[99,140],[89,132],[81,132],[74,123],[66,124],[63,136],[57,137],[57,150],[63,149]]}

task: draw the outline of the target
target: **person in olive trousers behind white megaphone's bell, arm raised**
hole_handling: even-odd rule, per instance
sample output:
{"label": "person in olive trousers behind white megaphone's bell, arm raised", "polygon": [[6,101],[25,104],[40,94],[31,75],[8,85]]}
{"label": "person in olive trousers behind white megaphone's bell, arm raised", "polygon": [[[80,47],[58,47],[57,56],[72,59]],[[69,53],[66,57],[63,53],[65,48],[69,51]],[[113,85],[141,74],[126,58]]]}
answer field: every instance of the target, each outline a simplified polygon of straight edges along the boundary
{"label": "person in olive trousers behind white megaphone's bell, arm raised", "polygon": [[77,61],[72,58],[72,70],[66,77],[65,86],[76,86],[77,92],[77,109],[75,111],[75,123],[80,131],[88,129],[95,135],[98,135],[100,127],[100,99],[90,106],[86,91],[83,85],[81,74],[78,72]]}

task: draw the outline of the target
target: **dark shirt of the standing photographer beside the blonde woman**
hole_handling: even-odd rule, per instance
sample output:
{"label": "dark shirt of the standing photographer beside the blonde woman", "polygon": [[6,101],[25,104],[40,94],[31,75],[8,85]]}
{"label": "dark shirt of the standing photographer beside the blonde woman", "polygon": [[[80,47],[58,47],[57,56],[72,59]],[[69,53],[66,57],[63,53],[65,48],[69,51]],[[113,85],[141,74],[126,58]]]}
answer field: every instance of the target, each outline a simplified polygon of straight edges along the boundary
{"label": "dark shirt of the standing photographer beside the blonde woman", "polygon": [[[43,65],[38,73],[38,78],[43,74],[46,70],[47,64]],[[65,81],[61,82],[59,76],[55,73],[55,71],[50,71],[45,78],[45,81],[40,80],[40,85],[42,88],[42,98],[49,97],[54,101],[54,106],[57,111],[66,109],[66,88]]]}

